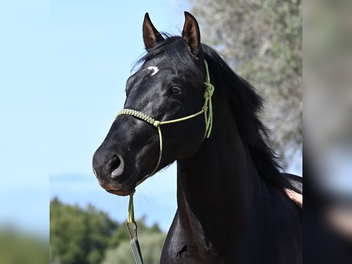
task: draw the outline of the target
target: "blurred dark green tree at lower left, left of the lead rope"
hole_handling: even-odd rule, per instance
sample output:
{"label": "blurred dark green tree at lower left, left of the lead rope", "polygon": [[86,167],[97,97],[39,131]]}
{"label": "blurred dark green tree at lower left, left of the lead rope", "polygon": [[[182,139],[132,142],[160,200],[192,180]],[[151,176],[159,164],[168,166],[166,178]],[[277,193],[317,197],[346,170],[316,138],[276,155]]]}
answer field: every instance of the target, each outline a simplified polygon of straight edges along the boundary
{"label": "blurred dark green tree at lower left, left of the lead rope", "polygon": [[50,202],[50,260],[61,264],[98,264],[118,224],[89,205]]}

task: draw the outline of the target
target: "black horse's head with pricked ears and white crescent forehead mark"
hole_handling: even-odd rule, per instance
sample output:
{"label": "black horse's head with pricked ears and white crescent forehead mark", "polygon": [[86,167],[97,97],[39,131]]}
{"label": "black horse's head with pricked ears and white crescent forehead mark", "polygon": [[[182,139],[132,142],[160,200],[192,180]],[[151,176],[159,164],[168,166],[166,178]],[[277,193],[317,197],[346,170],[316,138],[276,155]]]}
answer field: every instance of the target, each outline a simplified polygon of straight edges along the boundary
{"label": "black horse's head with pricked ears and white crescent forehead mark", "polygon": [[[124,109],[160,122],[199,112],[204,106],[205,64],[196,19],[185,12],[182,36],[164,38],[150,21],[143,22],[146,55],[143,65],[126,82]],[[151,122],[119,115],[93,156],[93,171],[102,188],[128,195],[138,181],[177,159],[193,155],[204,139],[202,115],[162,126],[163,152],[160,163],[158,130]],[[160,151],[161,152],[161,151]]]}

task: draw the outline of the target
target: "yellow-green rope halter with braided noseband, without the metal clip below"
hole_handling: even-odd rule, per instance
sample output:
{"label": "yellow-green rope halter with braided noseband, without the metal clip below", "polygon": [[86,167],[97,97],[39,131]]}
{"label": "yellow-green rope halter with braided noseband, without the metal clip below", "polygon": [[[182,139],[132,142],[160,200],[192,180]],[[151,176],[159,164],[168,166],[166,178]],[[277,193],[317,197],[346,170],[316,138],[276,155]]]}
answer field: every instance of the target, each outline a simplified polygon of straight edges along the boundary
{"label": "yellow-green rope halter with braided noseband, without the metal clip below", "polygon": [[[212,130],[212,123],[213,123],[213,108],[212,108],[212,95],[214,93],[214,86],[212,86],[212,84],[210,83],[210,78],[209,78],[209,71],[208,71],[208,63],[206,60],[204,60],[204,64],[205,64],[205,72],[206,72],[206,81],[204,82],[204,85],[206,86],[205,92],[204,92],[204,106],[202,107],[202,110],[193,114],[193,115],[189,115],[188,117],[183,117],[183,118],[179,118],[179,119],[175,119],[175,120],[170,120],[170,121],[157,121],[154,120],[153,118],[147,116],[146,114],[143,114],[141,112],[138,112],[136,110],[132,110],[132,109],[122,109],[121,111],[119,111],[115,117],[115,119],[119,116],[119,115],[132,115],[133,117],[142,119],[145,122],[148,122],[152,125],[154,125],[159,132],[159,139],[160,139],[160,152],[159,152],[159,159],[158,162],[154,168],[154,170],[146,177],[144,177],[142,180],[138,181],[136,184],[136,187],[141,184],[142,182],[144,182],[147,178],[151,177],[154,175],[154,173],[156,172],[156,170],[158,169],[160,160],[161,160],[161,155],[163,152],[163,139],[161,136],[161,130],[160,130],[160,125],[164,125],[164,124],[170,124],[170,123],[175,123],[175,122],[179,122],[179,121],[183,121],[186,119],[190,119],[193,117],[196,117],[197,115],[200,115],[201,113],[204,113],[204,119],[205,119],[205,137],[209,137],[210,136],[210,131]],[[207,116],[207,111],[209,110],[208,116]],[[128,223],[132,224],[132,220],[134,220],[134,208],[133,208],[133,194],[130,194],[130,202],[128,203],[128,213],[127,213],[127,221]]]}

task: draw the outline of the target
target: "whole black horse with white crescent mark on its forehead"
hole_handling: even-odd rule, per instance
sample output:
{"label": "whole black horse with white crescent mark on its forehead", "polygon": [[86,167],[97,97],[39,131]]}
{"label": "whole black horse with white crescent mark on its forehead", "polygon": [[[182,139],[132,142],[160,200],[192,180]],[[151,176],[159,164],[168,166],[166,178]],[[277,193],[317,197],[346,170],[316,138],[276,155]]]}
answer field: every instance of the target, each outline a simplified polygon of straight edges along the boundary
{"label": "whole black horse with white crescent mark on its forehead", "polygon": [[[147,53],[126,83],[124,108],[159,121],[200,111],[204,59],[215,87],[209,138],[202,115],[161,127],[158,170],[177,161],[178,206],[161,263],[178,263],[182,245],[197,248],[183,263],[302,263],[302,211],[284,191],[302,193],[301,178],[281,173],[258,117],[263,100],[257,91],[201,44],[196,19],[185,16],[179,37],[159,33],[145,15]],[[155,127],[121,115],[96,150],[93,170],[101,187],[125,196],[154,169],[158,154]]]}

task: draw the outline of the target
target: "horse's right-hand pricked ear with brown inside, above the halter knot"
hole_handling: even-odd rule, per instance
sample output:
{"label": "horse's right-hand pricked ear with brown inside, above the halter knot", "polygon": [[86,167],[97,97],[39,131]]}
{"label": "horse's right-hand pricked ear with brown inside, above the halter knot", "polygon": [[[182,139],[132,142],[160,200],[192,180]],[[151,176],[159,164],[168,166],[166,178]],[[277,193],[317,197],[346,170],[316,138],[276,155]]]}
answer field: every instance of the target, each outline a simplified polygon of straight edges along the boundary
{"label": "horse's right-hand pricked ear with brown inside, above the halter knot", "polygon": [[190,47],[193,55],[197,56],[200,50],[200,30],[197,20],[193,15],[184,12],[186,21],[184,22],[182,38]]}

